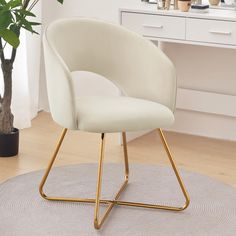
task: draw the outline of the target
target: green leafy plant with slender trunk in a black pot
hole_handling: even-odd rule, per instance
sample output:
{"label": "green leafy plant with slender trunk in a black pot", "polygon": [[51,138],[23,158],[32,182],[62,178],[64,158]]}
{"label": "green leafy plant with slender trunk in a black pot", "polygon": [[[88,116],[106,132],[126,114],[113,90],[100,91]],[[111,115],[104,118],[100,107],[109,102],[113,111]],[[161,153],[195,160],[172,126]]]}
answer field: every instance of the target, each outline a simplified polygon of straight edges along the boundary
{"label": "green leafy plant with slender trunk in a black pot", "polygon": [[[64,0],[56,0],[63,3]],[[13,127],[14,116],[11,112],[12,70],[20,45],[21,30],[37,32],[34,27],[40,25],[32,21],[33,8],[39,0],[0,0],[0,60],[4,80],[4,93],[0,94],[0,157],[18,154],[19,130]],[[6,48],[11,49],[9,58]]]}

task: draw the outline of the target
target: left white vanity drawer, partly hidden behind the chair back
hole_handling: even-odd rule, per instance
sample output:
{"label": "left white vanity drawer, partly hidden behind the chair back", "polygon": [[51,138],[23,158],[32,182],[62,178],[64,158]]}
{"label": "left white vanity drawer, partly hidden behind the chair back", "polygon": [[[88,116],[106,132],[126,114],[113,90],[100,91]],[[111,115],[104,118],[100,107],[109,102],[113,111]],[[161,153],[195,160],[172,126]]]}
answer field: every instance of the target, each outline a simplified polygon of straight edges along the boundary
{"label": "left white vanity drawer, partly hidden behind the chair back", "polygon": [[143,36],[185,39],[185,19],[181,17],[122,12],[122,25]]}

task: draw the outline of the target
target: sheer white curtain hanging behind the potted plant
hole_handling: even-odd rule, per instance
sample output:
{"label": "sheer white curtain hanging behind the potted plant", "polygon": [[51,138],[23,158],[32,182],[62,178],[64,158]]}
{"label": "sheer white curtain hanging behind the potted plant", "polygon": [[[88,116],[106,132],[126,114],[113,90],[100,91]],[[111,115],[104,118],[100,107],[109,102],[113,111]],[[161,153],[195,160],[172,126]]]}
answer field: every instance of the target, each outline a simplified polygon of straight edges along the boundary
{"label": "sheer white curtain hanging behind the potted plant", "polygon": [[[41,22],[41,3],[34,13],[38,22]],[[41,28],[37,32],[41,35]],[[14,126],[22,129],[31,126],[31,120],[37,115],[39,109],[39,76],[41,36],[21,31],[20,46],[13,68],[13,95],[12,112]],[[7,52],[9,54],[9,52]],[[2,73],[0,73],[0,92],[3,92]]]}

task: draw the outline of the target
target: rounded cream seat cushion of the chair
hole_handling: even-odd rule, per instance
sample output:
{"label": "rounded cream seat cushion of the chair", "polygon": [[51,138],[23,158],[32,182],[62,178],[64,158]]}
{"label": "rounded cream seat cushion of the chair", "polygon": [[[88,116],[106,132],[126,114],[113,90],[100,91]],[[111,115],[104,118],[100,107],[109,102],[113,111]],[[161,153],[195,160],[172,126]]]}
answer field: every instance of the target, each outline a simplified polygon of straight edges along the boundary
{"label": "rounded cream seat cushion of the chair", "polygon": [[132,97],[80,97],[78,129],[96,133],[163,128],[174,122],[166,106]]}

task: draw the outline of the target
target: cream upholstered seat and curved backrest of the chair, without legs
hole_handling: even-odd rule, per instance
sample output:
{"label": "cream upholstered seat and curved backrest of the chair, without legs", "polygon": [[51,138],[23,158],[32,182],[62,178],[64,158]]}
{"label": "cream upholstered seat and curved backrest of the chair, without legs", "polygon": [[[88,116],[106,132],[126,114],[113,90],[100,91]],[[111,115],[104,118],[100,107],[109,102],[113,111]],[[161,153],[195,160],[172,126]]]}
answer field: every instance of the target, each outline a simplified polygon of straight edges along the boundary
{"label": "cream upholstered seat and curved backrest of the chair, without legs", "polygon": [[[105,133],[174,122],[175,69],[150,41],[118,25],[75,18],[49,25],[43,42],[50,109],[61,126]],[[73,71],[100,74],[126,97],[76,99]]]}

